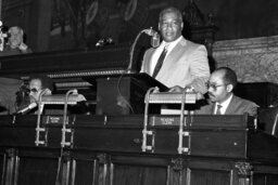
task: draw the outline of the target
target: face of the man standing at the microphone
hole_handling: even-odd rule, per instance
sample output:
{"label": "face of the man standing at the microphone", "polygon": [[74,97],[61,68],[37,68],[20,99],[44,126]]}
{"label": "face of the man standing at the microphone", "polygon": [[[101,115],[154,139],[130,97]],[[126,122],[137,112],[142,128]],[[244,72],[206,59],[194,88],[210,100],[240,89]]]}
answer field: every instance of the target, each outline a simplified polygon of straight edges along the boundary
{"label": "face of the man standing at the microphone", "polygon": [[160,18],[159,29],[165,42],[178,39],[181,36],[182,27],[184,23],[175,12],[166,12]]}

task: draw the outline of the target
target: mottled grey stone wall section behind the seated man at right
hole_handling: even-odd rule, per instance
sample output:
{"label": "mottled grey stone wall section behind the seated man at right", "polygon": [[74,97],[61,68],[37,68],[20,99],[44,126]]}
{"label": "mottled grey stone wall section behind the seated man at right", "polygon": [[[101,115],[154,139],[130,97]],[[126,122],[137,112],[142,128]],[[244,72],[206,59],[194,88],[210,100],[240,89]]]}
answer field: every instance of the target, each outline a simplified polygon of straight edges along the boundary
{"label": "mottled grey stone wall section behind the seated man at right", "polygon": [[232,68],[240,82],[278,83],[278,36],[217,41],[217,67]]}

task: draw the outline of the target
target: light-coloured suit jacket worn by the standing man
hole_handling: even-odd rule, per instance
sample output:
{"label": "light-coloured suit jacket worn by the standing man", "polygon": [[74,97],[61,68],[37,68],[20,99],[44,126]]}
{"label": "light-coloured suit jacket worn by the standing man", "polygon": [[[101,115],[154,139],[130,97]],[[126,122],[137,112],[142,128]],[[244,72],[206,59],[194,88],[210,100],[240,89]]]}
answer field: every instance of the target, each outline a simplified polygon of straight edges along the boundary
{"label": "light-coloured suit jacket worn by the standing man", "polygon": [[[151,75],[150,62],[154,51],[153,48],[146,51],[140,72]],[[210,67],[205,47],[181,38],[166,56],[155,79],[168,88],[192,85],[198,92],[205,93],[205,82],[208,77]]]}

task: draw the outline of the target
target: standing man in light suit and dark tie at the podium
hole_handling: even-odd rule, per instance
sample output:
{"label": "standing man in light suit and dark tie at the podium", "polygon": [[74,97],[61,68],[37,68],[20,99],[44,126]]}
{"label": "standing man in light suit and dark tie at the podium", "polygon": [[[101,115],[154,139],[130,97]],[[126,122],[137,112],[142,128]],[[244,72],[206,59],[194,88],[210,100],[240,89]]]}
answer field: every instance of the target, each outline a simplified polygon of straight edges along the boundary
{"label": "standing man in light suit and dark tie at the podium", "polygon": [[[181,36],[182,15],[175,8],[167,8],[160,13],[159,30],[162,43],[156,49],[149,49],[143,57],[141,72],[149,74],[172,92],[181,92],[185,88],[204,94],[210,77],[207,52],[204,45],[186,40]],[[156,63],[164,48],[166,56],[157,75],[153,76]]]}

